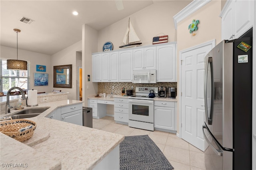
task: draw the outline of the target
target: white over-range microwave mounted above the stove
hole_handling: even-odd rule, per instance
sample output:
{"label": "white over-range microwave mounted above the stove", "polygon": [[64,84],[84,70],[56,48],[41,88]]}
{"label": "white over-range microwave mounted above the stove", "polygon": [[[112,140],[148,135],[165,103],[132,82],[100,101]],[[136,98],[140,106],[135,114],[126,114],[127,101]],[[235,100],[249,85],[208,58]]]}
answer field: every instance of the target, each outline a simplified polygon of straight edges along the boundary
{"label": "white over-range microwave mounted above the stove", "polygon": [[156,83],[156,70],[134,70],[132,83]]}

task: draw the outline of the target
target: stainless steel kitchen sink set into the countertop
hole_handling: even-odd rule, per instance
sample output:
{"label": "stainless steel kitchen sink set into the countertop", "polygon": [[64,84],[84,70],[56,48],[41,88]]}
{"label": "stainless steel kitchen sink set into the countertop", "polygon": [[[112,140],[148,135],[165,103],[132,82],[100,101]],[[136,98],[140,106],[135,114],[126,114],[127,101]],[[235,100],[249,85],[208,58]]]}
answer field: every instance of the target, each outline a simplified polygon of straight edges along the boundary
{"label": "stainless steel kitchen sink set into the countertop", "polygon": [[30,117],[36,117],[49,109],[50,107],[44,107],[44,108],[31,108],[19,111],[12,115],[12,119],[24,119],[24,118],[30,118]]}

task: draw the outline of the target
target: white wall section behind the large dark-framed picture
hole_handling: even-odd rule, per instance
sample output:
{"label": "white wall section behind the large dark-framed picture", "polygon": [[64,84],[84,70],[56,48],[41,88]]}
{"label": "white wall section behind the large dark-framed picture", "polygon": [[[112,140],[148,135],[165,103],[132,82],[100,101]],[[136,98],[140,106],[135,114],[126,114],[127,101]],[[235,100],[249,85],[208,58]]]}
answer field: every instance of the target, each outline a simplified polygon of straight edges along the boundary
{"label": "white wall section behind the large dark-framed picture", "polygon": [[72,88],[53,88],[53,81],[51,83],[52,89],[58,89],[62,92],[69,92],[68,99],[76,100],[76,51],[82,50],[82,40],[62,49],[58,53],[51,56],[51,73],[53,80],[53,66],[72,64]]}

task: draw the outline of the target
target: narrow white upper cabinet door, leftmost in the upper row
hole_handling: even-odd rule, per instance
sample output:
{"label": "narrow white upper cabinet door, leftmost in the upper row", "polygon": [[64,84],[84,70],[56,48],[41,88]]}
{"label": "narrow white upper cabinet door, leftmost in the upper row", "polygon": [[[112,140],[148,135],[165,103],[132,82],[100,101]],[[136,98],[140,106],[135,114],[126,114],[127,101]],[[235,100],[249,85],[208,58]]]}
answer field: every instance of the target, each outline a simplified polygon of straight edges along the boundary
{"label": "narrow white upper cabinet door, leftmost in the upper row", "polygon": [[92,55],[92,82],[101,82],[101,54]]}

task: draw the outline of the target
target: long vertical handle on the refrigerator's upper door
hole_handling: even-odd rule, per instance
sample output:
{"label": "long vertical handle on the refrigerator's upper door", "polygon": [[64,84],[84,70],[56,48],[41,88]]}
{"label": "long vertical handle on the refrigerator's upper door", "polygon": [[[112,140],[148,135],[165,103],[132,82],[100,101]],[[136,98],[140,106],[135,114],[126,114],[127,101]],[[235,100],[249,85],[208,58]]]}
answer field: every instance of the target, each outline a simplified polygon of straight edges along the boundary
{"label": "long vertical handle on the refrigerator's upper door", "polygon": [[[207,105],[207,79],[208,79],[208,65],[210,64],[211,71],[211,103],[210,103],[210,117],[208,117],[208,105]],[[213,79],[213,67],[212,67],[212,57],[207,57],[206,59],[206,70],[205,70],[205,79],[204,79],[204,107],[206,121],[208,125],[212,125],[212,114],[213,114],[213,101],[214,101],[214,79]]]}

